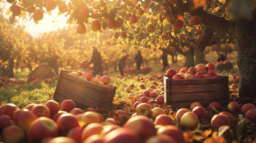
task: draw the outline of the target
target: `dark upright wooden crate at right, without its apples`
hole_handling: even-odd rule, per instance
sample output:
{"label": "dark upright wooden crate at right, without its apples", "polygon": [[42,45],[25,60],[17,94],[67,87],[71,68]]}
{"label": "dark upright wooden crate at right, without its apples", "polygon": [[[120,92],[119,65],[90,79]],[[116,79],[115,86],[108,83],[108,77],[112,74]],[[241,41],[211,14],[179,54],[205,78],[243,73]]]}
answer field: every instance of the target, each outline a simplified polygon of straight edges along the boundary
{"label": "dark upright wooden crate at right, without its apples", "polygon": [[190,107],[192,102],[200,102],[208,107],[211,102],[220,105],[229,103],[229,77],[219,74],[212,79],[168,79],[164,75],[165,102],[175,107]]}

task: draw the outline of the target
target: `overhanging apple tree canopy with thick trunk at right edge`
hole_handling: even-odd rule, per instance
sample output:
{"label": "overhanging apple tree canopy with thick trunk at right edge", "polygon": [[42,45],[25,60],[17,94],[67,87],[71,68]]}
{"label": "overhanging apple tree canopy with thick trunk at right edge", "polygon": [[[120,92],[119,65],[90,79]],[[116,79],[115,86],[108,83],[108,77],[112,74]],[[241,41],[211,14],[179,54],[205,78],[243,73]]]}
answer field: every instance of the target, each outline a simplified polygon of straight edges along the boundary
{"label": "overhanging apple tree canopy with thick trunk at right edge", "polygon": [[[149,48],[154,45],[163,51],[171,48],[187,56],[192,63],[203,63],[206,46],[220,41],[237,43],[239,66],[239,95],[256,97],[256,10],[255,0],[7,0],[11,5],[10,22],[29,15],[35,23],[58,7],[76,24],[76,32],[86,33],[90,24],[94,32],[106,28],[115,36],[133,45]],[[143,25],[140,24],[142,21]],[[147,23],[147,24],[145,24]],[[167,41],[158,40],[167,36]],[[196,33],[197,32],[197,33]],[[195,34],[196,33],[196,34]],[[127,38],[129,40],[127,40]],[[132,40],[135,39],[135,40]],[[132,40],[132,41],[131,41]],[[169,46],[169,47],[166,47]],[[194,56],[193,56],[194,55]],[[193,63],[195,60],[195,63]]]}

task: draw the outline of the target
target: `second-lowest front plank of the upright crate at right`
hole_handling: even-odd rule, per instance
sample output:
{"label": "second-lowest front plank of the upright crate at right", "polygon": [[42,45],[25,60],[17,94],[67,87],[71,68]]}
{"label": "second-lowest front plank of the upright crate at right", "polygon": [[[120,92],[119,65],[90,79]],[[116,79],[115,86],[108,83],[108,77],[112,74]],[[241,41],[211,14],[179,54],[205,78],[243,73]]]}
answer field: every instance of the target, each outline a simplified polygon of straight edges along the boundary
{"label": "second-lowest front plank of the upright crate at right", "polygon": [[225,100],[224,91],[171,94],[172,102]]}

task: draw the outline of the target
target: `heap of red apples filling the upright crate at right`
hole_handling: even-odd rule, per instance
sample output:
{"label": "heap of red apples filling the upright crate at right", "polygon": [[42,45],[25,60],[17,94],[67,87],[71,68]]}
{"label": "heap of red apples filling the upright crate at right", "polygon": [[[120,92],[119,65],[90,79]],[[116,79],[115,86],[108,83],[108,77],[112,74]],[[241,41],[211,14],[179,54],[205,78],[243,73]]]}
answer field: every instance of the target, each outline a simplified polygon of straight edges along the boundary
{"label": "heap of red apples filling the upright crate at right", "polygon": [[180,71],[169,69],[166,71],[168,78],[177,79],[202,79],[219,77],[216,74],[215,66],[212,63],[198,64],[196,67],[190,67],[189,70],[184,68]]}

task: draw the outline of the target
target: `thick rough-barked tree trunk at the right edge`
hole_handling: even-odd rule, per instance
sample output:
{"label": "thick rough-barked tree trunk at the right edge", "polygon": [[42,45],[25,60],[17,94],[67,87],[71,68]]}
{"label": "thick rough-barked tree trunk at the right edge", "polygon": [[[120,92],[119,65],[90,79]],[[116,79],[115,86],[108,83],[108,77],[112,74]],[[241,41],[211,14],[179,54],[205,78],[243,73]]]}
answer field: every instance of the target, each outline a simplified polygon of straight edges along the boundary
{"label": "thick rough-barked tree trunk at the right edge", "polygon": [[236,22],[235,37],[238,41],[239,96],[256,97],[256,15],[254,20]]}

